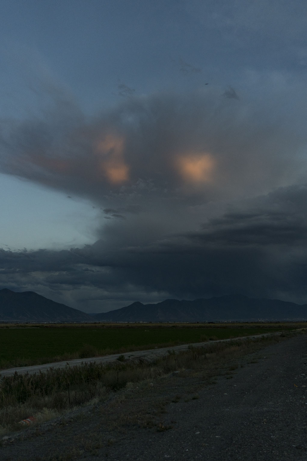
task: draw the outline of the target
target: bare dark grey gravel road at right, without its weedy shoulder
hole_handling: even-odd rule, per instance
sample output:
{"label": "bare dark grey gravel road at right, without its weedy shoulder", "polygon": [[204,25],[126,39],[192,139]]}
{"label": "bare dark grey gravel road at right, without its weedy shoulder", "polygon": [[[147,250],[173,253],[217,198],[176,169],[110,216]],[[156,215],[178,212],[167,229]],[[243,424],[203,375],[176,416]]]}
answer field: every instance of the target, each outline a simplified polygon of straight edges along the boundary
{"label": "bare dark grey gravel road at right, without its weedy shoulder", "polygon": [[143,449],[129,459],[306,461],[306,337],[277,343],[261,356],[199,400],[173,404],[169,418],[177,420],[176,430],[150,442],[143,438]]}

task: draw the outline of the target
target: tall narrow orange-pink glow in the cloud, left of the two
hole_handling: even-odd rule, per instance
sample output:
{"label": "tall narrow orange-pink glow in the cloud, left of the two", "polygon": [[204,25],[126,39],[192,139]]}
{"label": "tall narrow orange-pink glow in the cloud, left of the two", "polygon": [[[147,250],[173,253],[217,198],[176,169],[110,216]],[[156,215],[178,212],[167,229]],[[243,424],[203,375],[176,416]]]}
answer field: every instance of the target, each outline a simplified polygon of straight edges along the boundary
{"label": "tall narrow orange-pink glow in the cloud, left of the two", "polygon": [[106,135],[97,142],[95,152],[100,157],[99,170],[110,183],[120,184],[129,179],[129,167],[124,162],[123,137]]}

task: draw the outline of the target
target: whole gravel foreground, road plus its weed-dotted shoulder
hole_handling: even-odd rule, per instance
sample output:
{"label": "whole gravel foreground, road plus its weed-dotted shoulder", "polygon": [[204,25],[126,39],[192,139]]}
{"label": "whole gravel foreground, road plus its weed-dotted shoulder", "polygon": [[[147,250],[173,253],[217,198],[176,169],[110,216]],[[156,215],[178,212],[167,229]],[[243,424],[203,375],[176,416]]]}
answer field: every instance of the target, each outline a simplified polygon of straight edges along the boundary
{"label": "whole gravel foreground, road plus its weed-dotted shoulder", "polygon": [[239,362],[215,384],[187,371],[131,386],[121,397],[25,431],[3,444],[0,459],[306,460],[306,336]]}

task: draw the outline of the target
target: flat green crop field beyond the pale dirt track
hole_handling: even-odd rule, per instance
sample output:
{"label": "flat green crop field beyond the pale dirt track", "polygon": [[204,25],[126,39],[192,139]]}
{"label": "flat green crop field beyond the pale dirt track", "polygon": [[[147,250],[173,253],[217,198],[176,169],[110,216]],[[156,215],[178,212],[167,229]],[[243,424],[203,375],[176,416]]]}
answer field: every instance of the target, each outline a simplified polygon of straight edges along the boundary
{"label": "flat green crop field beyond the pale dirt track", "polygon": [[[280,329],[282,330],[282,328]],[[90,357],[156,345],[257,335],[272,328],[1,328],[0,368]],[[273,331],[278,331],[274,328]]]}

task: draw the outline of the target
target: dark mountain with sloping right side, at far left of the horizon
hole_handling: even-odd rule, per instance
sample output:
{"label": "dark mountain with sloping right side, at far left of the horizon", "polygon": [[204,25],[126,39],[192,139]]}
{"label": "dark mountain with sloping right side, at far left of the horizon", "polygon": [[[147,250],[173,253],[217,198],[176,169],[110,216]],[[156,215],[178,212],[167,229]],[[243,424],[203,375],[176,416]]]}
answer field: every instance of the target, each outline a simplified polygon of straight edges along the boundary
{"label": "dark mountain with sloping right side, at far left of the horizon", "polygon": [[93,317],[34,291],[16,293],[5,288],[0,290],[0,321],[89,322]]}

